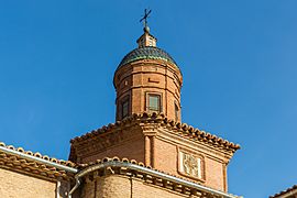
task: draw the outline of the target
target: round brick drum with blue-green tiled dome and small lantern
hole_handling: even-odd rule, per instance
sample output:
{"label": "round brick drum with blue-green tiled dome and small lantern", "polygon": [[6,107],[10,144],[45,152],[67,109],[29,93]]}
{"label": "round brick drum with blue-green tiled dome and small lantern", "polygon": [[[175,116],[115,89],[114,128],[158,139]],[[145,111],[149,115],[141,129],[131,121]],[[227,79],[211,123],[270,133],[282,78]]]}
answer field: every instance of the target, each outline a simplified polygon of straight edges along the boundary
{"label": "round brick drum with blue-green tiled dome and small lantern", "polygon": [[114,73],[116,120],[155,112],[180,122],[182,72],[172,56],[156,46],[148,26],[143,30],[138,48],[124,56]]}

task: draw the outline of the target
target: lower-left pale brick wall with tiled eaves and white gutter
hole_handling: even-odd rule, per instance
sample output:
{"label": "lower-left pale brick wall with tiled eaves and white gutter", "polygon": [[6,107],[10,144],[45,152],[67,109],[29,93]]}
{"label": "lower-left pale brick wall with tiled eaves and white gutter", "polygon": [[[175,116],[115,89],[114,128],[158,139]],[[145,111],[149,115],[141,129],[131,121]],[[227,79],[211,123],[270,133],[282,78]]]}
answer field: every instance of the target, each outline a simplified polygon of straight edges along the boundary
{"label": "lower-left pale brick wall with tiled eaves and white gutter", "polygon": [[[0,197],[66,198],[76,164],[0,143]],[[63,168],[64,167],[64,168]],[[77,198],[76,195],[73,196]]]}

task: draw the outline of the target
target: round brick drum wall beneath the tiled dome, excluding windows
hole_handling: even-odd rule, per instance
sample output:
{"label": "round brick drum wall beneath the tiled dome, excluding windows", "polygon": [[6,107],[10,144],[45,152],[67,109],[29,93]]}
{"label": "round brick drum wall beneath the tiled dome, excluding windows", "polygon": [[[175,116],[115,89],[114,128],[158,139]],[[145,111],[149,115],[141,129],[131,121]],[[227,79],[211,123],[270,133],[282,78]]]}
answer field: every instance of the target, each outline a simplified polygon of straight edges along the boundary
{"label": "round brick drum wall beneath the tiled dome, excluding windows", "polygon": [[[114,74],[117,89],[117,120],[121,120],[121,103],[130,97],[130,114],[148,111],[147,94],[157,94],[162,112],[172,120],[180,121],[180,72],[163,61],[139,61],[121,67]],[[179,111],[175,113],[175,103]]]}

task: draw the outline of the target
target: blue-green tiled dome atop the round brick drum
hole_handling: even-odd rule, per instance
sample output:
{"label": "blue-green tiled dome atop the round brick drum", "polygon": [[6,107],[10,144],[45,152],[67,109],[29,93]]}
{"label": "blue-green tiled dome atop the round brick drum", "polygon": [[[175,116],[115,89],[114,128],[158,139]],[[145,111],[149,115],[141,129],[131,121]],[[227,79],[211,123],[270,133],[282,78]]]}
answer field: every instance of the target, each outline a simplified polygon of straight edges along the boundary
{"label": "blue-green tiled dome atop the round brick drum", "polygon": [[172,58],[172,56],[168,53],[155,46],[145,46],[145,47],[135,48],[131,51],[129,54],[127,54],[121,61],[121,63],[119,64],[118,69],[125,64],[129,64],[131,62],[135,62],[139,59],[163,59],[163,61],[174,64],[178,68],[177,64],[175,63],[175,61]]}

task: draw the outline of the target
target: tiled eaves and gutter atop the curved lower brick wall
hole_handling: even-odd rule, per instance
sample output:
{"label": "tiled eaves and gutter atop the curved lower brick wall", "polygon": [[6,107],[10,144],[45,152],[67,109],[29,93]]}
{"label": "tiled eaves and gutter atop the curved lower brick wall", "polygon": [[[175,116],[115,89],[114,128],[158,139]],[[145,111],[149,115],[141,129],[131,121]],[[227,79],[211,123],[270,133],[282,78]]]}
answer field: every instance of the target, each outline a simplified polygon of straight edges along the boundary
{"label": "tiled eaves and gutter atop the curved lower brick wall", "polygon": [[[136,166],[140,168],[135,168]],[[119,175],[130,179],[141,179],[148,185],[154,185],[155,187],[173,190],[187,196],[206,198],[238,197],[220,190],[211,189],[201,185],[200,183],[195,183],[184,177],[178,177],[176,175],[153,169],[151,166],[145,166],[143,163],[138,163],[134,160],[129,161],[128,158],[120,160],[119,157],[105,157],[102,161],[97,160],[96,162],[91,162],[89,164],[81,164],[79,169],[81,170],[81,176],[87,183],[95,182],[98,177]],[[87,174],[84,174],[84,172]],[[197,186],[197,188],[194,186]]]}

